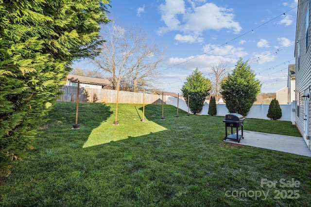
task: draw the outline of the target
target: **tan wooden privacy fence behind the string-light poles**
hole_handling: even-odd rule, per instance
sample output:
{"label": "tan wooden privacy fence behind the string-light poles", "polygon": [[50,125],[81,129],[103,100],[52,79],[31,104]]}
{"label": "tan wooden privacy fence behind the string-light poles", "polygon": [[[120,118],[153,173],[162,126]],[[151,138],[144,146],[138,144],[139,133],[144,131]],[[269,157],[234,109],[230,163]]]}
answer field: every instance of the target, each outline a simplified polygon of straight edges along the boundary
{"label": "tan wooden privacy fence behind the string-light poles", "polygon": [[[77,87],[63,86],[60,91],[62,95],[57,98],[57,101],[76,102]],[[79,102],[104,102],[116,103],[117,91],[97,88],[80,88]],[[163,97],[164,104],[166,96]],[[119,103],[142,104],[143,94],[128,91],[119,91]],[[162,104],[162,95],[145,94],[145,104]]]}

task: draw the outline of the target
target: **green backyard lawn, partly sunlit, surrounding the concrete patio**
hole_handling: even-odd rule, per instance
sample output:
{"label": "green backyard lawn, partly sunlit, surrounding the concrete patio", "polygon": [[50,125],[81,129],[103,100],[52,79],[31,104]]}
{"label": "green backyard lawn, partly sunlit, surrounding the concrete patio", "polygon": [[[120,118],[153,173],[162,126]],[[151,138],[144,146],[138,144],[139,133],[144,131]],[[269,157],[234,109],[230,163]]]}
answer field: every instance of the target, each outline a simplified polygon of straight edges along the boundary
{"label": "green backyard lawn, partly sunlit, surrounding the concrete patio", "polygon": [[[119,104],[114,126],[114,111],[115,104],[81,103],[80,129],[73,130],[75,103],[57,103],[38,129],[35,149],[0,180],[0,206],[311,203],[311,158],[225,143],[224,117],[179,110],[176,118],[176,108],[166,105],[162,120],[162,106],[147,105],[142,123],[142,105]],[[300,136],[284,121],[245,119],[244,129]],[[261,179],[276,186],[261,187]],[[300,185],[284,187],[280,179]]]}

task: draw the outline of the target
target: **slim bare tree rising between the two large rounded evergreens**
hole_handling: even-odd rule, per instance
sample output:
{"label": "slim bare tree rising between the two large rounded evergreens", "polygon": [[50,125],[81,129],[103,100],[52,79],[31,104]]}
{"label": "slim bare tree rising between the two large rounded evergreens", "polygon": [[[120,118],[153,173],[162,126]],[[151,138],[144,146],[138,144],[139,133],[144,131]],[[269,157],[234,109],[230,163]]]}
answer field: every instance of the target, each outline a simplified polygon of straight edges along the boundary
{"label": "slim bare tree rising between the two large rounded evergreens", "polygon": [[219,91],[220,91],[220,82],[225,78],[227,73],[230,71],[230,68],[227,67],[224,61],[220,61],[217,64],[214,64],[213,66],[210,67],[211,74],[213,78],[211,79],[212,81],[212,92],[215,96],[216,101],[218,101],[219,98]]}

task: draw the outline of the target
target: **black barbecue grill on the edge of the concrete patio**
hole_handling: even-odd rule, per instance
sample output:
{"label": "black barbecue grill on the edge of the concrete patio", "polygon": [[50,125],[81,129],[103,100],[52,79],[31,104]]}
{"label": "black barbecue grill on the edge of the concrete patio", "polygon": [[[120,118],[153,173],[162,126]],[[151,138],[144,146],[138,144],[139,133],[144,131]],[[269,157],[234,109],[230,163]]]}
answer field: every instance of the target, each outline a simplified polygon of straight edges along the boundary
{"label": "black barbecue grill on the edge of the concrete patio", "polygon": [[[241,139],[244,139],[243,137],[243,121],[244,117],[239,113],[229,113],[225,115],[225,140],[226,139],[233,139],[237,140],[238,143],[240,143]],[[227,127],[231,127],[231,134],[227,135]],[[237,134],[233,134],[233,127],[237,129]],[[242,127],[242,134],[239,135],[239,127]]]}

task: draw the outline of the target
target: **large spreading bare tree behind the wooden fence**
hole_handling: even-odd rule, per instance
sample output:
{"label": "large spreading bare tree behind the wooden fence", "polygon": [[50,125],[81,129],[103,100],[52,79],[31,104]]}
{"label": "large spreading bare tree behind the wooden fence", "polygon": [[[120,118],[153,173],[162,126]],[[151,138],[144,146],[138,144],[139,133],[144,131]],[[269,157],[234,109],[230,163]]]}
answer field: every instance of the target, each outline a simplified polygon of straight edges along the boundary
{"label": "large spreading bare tree behind the wooden fence", "polygon": [[128,83],[133,92],[148,90],[159,75],[156,69],[164,60],[164,50],[148,44],[148,36],[140,28],[111,23],[104,27],[103,36],[106,42],[101,55],[92,63],[111,75],[116,90],[121,89],[122,82]]}

